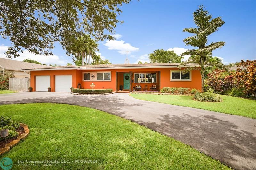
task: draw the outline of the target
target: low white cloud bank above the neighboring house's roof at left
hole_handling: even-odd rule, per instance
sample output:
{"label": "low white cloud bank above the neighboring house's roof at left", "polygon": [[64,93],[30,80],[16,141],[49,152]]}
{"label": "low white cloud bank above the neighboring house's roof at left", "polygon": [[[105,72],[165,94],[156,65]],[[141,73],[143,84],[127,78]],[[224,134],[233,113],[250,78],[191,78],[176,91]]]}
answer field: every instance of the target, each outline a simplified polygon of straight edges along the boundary
{"label": "low white cloud bank above the neighboring house's roof at left", "polygon": [[[6,51],[8,50],[8,46],[4,46],[1,45],[0,46],[0,57],[1,58],[7,58],[6,55],[4,54]],[[57,64],[57,65],[66,65],[66,63],[68,63],[67,61],[61,60],[59,58],[58,55],[48,55],[48,56],[44,56],[44,55],[35,55],[32,53],[29,53],[28,50],[24,50],[23,53],[18,52],[18,54],[20,55],[17,58],[12,58],[14,60],[18,60],[18,61],[23,61],[26,58],[29,58],[31,60],[36,60],[42,64]]]}

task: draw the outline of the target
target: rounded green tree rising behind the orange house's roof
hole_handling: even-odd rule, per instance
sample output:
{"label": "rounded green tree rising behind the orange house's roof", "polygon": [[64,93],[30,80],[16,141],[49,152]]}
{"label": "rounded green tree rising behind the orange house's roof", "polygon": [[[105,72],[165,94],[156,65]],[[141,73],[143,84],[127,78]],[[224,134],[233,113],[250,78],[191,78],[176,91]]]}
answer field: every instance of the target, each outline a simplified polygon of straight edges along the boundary
{"label": "rounded green tree rising behind the orange house's roof", "polygon": [[180,63],[183,57],[178,56],[174,51],[163,49],[155,50],[148,55],[150,63]]}

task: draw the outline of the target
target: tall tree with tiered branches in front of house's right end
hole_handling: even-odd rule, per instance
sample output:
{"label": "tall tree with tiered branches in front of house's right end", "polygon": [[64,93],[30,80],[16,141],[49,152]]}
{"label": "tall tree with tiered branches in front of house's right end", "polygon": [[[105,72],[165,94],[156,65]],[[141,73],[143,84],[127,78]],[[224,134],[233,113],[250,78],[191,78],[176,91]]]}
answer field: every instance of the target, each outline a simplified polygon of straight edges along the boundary
{"label": "tall tree with tiered branches in front of house's right end", "polygon": [[[197,28],[185,28],[184,32],[193,33],[195,35],[185,38],[183,41],[186,45],[191,45],[193,47],[198,47],[198,49],[189,49],[186,52],[182,53],[184,55],[193,55],[187,61],[180,64],[180,68],[189,63],[196,63],[200,66],[200,73],[202,79],[202,92],[204,92],[204,73],[207,66],[214,66],[220,64],[217,60],[210,58],[212,51],[221,48],[225,45],[225,42],[212,42],[207,45],[208,36],[218,30],[225,22],[221,17],[212,19],[212,15],[208,11],[204,10],[204,6],[199,6],[193,13],[194,22]],[[222,65],[224,67],[224,65]],[[221,67],[221,65],[219,65]],[[197,67],[188,67],[186,70],[197,69]]]}

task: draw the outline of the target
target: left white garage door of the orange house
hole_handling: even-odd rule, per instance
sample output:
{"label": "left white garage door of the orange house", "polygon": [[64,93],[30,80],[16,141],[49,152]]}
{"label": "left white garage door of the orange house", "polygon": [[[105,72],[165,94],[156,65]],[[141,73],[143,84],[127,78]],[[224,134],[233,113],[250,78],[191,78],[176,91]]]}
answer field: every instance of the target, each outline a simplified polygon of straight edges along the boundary
{"label": "left white garage door of the orange house", "polygon": [[50,87],[50,76],[36,76],[36,91],[47,92]]}

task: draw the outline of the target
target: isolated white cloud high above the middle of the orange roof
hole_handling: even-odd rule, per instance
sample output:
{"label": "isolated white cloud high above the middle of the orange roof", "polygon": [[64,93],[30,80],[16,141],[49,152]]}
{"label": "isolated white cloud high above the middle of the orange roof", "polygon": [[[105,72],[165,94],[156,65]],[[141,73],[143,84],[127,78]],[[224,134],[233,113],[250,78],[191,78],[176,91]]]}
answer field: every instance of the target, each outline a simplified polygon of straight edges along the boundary
{"label": "isolated white cloud high above the middle of the orange roof", "polygon": [[110,50],[117,50],[120,54],[126,54],[126,50],[128,51],[128,54],[139,51],[139,48],[133,47],[129,43],[124,43],[123,40],[107,40],[104,45]]}

